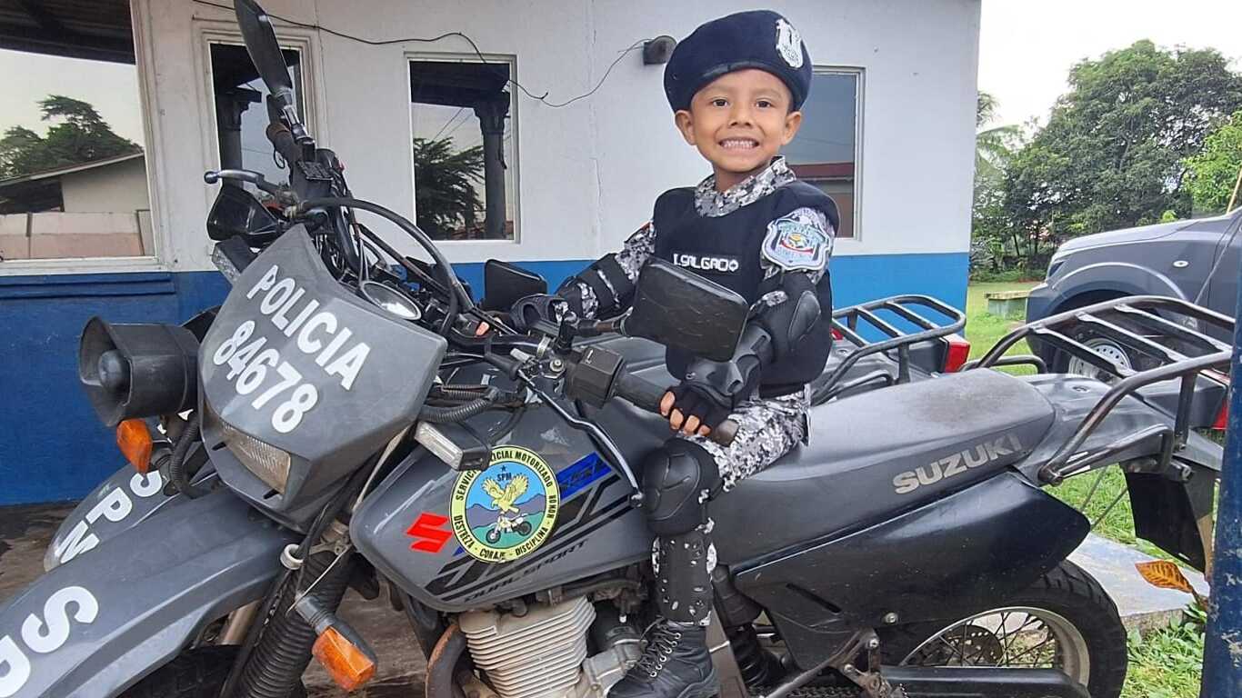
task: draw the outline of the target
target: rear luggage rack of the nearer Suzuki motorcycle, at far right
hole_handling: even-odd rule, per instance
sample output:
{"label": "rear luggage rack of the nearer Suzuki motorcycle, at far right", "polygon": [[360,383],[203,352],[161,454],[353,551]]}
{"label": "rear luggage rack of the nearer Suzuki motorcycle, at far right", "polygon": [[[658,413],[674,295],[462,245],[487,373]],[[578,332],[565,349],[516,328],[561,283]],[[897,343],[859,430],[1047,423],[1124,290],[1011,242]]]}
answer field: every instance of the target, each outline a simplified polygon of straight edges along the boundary
{"label": "rear luggage rack of the nearer Suzuki motorcycle, at far right", "polygon": [[[1191,319],[1195,327],[1161,317],[1158,312]],[[1131,325],[1135,329],[1125,325]],[[1004,354],[1010,347],[1022,339],[1036,338],[1117,379],[1099,399],[1099,402],[1087,412],[1073,437],[1040,468],[1041,481],[1048,484],[1059,484],[1067,477],[1086,472],[1093,465],[1122,453],[1140,441],[1154,437],[1160,438],[1156,471],[1165,472],[1172,462],[1175,451],[1186,443],[1200,374],[1213,386],[1228,389],[1228,379],[1225,374],[1228,371],[1233,350],[1230,344],[1201,332],[1205,325],[1213,325],[1225,330],[1228,337],[1233,335],[1233,319],[1228,315],[1179,298],[1130,296],[1074,308],[1025,324],[1002,337],[996,345],[969,368],[986,369],[1002,365]],[[1071,329],[1086,330],[1118,342],[1138,354],[1159,360],[1160,365],[1146,370],[1124,366],[1095,353],[1078,339],[1071,338],[1067,334]],[[1140,332],[1150,334],[1140,334]],[[1177,343],[1179,347],[1160,344],[1151,339],[1153,335]],[[1181,386],[1177,392],[1172,427],[1167,425],[1148,427],[1122,437],[1103,448],[1079,451],[1087,437],[1124,397],[1134,395],[1139,400],[1146,401],[1146,397],[1139,392],[1140,389],[1174,379],[1180,379]]]}

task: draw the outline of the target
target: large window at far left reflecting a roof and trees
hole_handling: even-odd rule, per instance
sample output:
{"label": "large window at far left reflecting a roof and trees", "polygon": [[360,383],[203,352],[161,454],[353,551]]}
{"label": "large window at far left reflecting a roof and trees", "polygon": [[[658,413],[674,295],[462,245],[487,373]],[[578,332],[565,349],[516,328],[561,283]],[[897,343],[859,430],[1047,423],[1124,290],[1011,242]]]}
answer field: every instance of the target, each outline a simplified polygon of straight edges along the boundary
{"label": "large window at far left reflecting a roof and trees", "polygon": [[19,2],[0,31],[0,273],[34,260],[153,257],[128,2]]}

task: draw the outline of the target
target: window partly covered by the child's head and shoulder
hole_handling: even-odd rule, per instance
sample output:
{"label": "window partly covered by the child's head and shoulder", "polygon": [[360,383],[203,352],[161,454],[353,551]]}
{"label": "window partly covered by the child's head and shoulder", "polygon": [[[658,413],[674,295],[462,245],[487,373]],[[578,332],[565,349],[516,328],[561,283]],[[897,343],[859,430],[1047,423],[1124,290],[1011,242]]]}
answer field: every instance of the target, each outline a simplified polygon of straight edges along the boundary
{"label": "window partly covered by the child's head and shoulder", "polygon": [[837,237],[857,235],[862,71],[816,68],[802,104],[802,128],[785,148],[790,168],[832,196],[841,212]]}

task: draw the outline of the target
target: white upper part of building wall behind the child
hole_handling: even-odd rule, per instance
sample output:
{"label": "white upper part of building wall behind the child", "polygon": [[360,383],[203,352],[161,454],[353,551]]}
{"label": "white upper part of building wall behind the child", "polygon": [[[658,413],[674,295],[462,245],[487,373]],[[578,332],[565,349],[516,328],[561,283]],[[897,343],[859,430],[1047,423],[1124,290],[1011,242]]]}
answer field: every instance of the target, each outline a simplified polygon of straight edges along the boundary
{"label": "white upper part of building wall behind the child", "polygon": [[[190,0],[133,0],[148,114],[158,266],[210,268],[204,219],[216,166],[209,36],[231,12]],[[969,246],[980,0],[770,0],[820,66],[863,77],[859,238],[838,255],[964,252]],[[375,40],[461,31],[484,53],[515,55],[515,78],[563,102],[591,89],[642,39],[683,37],[751,7],[740,0],[263,0],[277,15]],[[412,217],[409,67],[414,55],[471,55],[458,37],[365,46],[277,22],[302,47],[308,120],[347,164],[354,193]],[[215,32],[215,34],[212,34]],[[672,127],[662,66],[627,55],[592,97],[517,107],[518,242],[447,243],[453,261],[582,260],[615,248],[655,197],[709,173]],[[396,236],[394,235],[394,238]],[[55,270],[53,270],[55,271]],[[70,271],[82,271],[81,268]]]}

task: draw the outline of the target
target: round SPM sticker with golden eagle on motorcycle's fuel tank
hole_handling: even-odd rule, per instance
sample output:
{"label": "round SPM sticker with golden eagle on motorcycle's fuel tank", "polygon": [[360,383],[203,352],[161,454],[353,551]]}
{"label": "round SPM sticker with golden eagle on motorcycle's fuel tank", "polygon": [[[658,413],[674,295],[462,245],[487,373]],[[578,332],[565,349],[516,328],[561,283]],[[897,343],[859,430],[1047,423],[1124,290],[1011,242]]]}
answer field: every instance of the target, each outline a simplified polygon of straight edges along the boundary
{"label": "round SPM sticker with golden eagle on motorcycle's fuel tank", "polygon": [[493,448],[487,469],[463,472],[453,484],[453,533],[486,563],[517,560],[543,545],[559,509],[556,473],[517,446]]}

